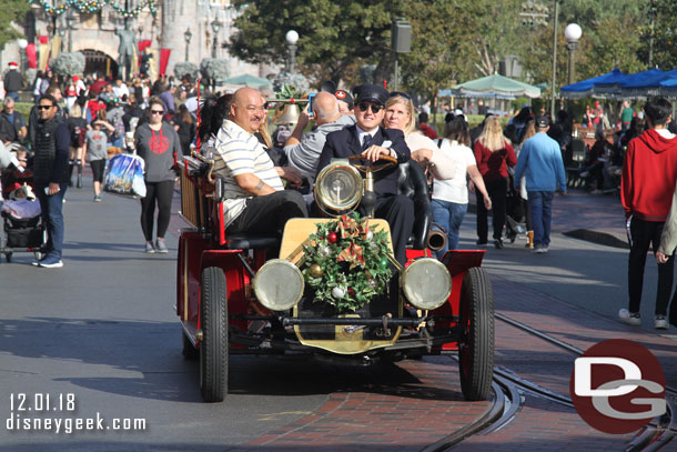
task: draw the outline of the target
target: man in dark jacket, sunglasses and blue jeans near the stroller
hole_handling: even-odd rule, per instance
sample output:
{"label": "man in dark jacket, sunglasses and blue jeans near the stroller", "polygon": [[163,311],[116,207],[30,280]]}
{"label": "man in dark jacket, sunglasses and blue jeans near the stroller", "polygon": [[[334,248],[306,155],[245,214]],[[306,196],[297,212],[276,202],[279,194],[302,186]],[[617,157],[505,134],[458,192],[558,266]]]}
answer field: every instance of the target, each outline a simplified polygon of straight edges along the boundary
{"label": "man in dark jacket, sunglasses and blue jeans near the stroller", "polygon": [[67,123],[57,115],[58,107],[51,94],[40,97],[33,149],[33,182],[49,234],[48,252],[33,265],[47,269],[63,267],[63,197],[68,189],[71,134]]}

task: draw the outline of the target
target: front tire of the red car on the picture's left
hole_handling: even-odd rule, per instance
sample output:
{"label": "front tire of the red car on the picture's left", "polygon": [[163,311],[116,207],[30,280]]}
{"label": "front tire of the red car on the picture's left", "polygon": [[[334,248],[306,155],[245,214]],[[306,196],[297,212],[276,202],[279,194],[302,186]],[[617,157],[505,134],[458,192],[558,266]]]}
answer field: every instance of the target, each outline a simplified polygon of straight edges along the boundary
{"label": "front tire of the red car on the picture's left", "polygon": [[200,392],[205,402],[228,394],[228,301],[225,275],[218,267],[202,271],[200,283]]}

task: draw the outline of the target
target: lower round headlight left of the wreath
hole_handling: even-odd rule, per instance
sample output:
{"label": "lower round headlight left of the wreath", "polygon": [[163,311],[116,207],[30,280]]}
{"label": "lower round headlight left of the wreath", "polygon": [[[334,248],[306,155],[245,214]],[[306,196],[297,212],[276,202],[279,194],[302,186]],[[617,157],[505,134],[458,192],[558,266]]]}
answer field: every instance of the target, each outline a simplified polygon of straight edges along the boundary
{"label": "lower round headlight left of the wreath", "polygon": [[284,259],[271,259],[256,272],[254,293],[261,304],[272,311],[286,311],[303,295],[301,270]]}

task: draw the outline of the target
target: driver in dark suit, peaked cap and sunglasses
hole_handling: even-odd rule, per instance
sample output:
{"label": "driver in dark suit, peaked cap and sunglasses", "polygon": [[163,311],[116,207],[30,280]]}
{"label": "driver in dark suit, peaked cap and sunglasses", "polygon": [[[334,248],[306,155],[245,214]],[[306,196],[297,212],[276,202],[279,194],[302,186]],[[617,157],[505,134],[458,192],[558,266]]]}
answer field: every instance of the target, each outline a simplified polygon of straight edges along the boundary
{"label": "driver in dark suit, peaked cap and sunglasses", "polygon": [[[404,141],[404,133],[381,127],[388,92],[375,84],[363,84],[357,87],[355,92],[357,123],[326,135],[317,172],[330,164],[332,159],[346,159],[351,155],[363,155],[364,161],[372,162],[381,155],[394,157],[398,163],[410,160],[411,153]],[[414,227],[414,202],[406,195],[397,194],[396,167],[374,174],[374,191],[377,197],[374,215],[390,223],[395,259],[404,265],[406,241]]]}

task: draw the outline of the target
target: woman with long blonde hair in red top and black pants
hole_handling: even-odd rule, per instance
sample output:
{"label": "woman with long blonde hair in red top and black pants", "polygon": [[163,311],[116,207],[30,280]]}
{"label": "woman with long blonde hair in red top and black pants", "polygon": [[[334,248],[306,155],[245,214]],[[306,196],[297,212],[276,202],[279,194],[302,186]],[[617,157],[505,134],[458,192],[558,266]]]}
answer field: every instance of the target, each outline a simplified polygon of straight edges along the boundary
{"label": "woman with long blonde hair in red top and black pants", "polygon": [[[505,202],[508,188],[507,164],[517,164],[517,158],[511,141],[503,135],[498,117],[488,117],[482,134],[473,147],[477,169],[484,179],[486,191],[493,205],[492,223],[494,225],[494,245],[503,248],[503,224],[505,223]],[[477,244],[487,243],[487,210],[484,197],[477,195]]]}

